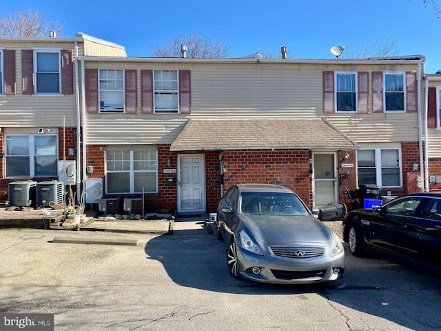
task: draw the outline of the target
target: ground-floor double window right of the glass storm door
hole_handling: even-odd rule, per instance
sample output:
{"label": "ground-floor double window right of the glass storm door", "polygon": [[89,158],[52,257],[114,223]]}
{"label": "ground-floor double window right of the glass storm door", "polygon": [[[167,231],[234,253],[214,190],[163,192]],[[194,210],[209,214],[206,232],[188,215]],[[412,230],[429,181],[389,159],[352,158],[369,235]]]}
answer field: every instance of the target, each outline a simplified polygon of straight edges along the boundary
{"label": "ground-floor double window right of the glass storm door", "polygon": [[400,148],[371,148],[357,151],[358,185],[373,184],[381,188],[402,186]]}

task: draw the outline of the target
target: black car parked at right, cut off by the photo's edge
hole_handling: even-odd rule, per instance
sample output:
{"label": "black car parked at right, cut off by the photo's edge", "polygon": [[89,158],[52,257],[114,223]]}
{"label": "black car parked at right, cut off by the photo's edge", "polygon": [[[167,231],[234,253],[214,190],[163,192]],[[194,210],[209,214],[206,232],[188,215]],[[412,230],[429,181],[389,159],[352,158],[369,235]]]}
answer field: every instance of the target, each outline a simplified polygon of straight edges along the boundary
{"label": "black car parked at right, cut off by the photo's edge", "polygon": [[440,193],[404,194],[371,210],[353,210],[342,223],[343,240],[356,257],[381,253],[441,271]]}

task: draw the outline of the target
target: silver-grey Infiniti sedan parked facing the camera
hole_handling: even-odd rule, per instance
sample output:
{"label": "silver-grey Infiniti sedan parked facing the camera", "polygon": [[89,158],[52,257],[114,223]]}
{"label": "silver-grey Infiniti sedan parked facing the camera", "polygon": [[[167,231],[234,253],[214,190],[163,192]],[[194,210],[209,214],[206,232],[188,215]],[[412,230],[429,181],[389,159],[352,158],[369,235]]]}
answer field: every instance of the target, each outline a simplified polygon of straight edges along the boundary
{"label": "silver-grey Infiniti sedan parked facing the camera", "polygon": [[235,278],[307,284],[336,281],[345,272],[338,236],[283,186],[233,185],[220,199],[216,227]]}

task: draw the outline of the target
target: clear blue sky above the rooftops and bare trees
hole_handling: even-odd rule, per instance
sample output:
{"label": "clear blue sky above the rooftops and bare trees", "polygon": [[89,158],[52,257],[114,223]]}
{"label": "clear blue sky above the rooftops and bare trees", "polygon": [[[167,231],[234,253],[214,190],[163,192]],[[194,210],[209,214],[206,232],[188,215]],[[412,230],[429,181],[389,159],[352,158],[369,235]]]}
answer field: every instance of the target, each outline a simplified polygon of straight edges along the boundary
{"label": "clear blue sky above the rooftops and bare trees", "polygon": [[[438,1],[438,3],[441,3]],[[399,55],[423,54],[425,72],[441,70],[441,18],[422,0],[0,0],[1,14],[37,10],[65,26],[150,57],[173,35],[200,32],[230,46],[232,57],[287,46],[296,59],[331,59],[332,46],[396,40]]]}

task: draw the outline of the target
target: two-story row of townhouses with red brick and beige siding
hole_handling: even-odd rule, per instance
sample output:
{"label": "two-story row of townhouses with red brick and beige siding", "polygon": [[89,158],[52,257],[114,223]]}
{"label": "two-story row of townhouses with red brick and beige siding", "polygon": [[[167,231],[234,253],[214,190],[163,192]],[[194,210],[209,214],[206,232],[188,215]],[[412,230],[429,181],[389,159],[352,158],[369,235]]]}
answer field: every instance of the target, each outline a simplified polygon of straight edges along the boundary
{"label": "two-story row of townhouses with red brick and beige siding", "polygon": [[127,57],[84,34],[0,47],[0,200],[10,181],[60,179],[66,159],[78,196],[97,202],[98,183],[152,211],[212,212],[234,183],[285,185],[310,207],[362,184],[438,188],[441,74],[425,75],[423,56]]}

